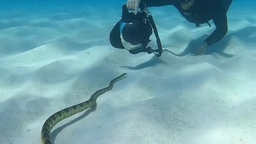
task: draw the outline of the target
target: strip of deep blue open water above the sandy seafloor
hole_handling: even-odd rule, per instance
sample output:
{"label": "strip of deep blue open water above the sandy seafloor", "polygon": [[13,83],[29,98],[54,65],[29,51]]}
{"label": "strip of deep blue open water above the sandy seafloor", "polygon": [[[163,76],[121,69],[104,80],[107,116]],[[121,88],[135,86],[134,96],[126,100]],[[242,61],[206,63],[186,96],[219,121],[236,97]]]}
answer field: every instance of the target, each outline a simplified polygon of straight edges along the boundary
{"label": "strip of deep blue open water above the sandy seafloor", "polygon": [[[225,1],[225,0],[223,0]],[[74,8],[82,8],[84,6],[93,6],[95,9],[99,9],[100,7],[104,7],[106,5],[113,6],[113,7],[122,7],[125,4],[125,0],[115,0],[115,1],[33,1],[33,0],[26,0],[26,1],[8,1],[3,0],[0,2],[0,11],[12,11],[12,10],[34,10],[34,11],[45,11],[45,10],[55,10],[58,7],[69,7],[71,9]],[[242,0],[234,0],[233,5],[242,7],[242,9],[253,9],[256,2],[251,1],[242,1]],[[101,9],[102,10],[102,9]],[[102,10],[104,11],[104,9]]]}

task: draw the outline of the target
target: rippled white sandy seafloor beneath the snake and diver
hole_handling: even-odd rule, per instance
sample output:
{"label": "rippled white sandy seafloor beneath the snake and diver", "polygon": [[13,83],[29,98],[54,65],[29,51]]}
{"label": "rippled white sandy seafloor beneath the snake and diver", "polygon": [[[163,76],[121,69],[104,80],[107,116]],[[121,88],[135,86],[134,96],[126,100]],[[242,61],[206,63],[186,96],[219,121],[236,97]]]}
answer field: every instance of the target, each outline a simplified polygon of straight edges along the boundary
{"label": "rippled white sandy seafloor beneath the snake and diver", "polygon": [[[44,121],[127,73],[97,108],[57,124],[59,143],[256,142],[256,17],[233,6],[228,34],[206,55],[189,54],[213,27],[173,7],[150,8],[162,57],[112,47],[121,9],[2,14],[0,143],[41,143]],[[94,14],[94,15],[92,15]],[[213,25],[213,22],[210,21]],[[155,47],[154,34],[150,46]],[[175,53],[175,54],[173,54]],[[94,110],[94,111],[93,111]]]}

